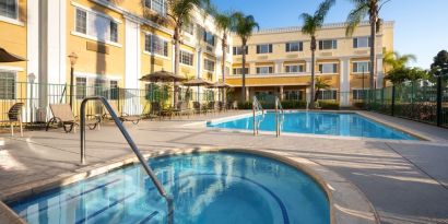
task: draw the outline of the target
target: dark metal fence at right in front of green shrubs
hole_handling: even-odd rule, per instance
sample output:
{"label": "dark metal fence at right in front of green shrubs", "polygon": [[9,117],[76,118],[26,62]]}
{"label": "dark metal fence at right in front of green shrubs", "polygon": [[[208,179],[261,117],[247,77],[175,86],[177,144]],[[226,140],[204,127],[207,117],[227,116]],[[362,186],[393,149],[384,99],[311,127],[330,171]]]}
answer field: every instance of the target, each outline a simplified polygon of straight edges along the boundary
{"label": "dark metal fence at right in front of green shrubs", "polygon": [[386,115],[448,128],[448,82],[421,80],[366,91],[364,107]]}

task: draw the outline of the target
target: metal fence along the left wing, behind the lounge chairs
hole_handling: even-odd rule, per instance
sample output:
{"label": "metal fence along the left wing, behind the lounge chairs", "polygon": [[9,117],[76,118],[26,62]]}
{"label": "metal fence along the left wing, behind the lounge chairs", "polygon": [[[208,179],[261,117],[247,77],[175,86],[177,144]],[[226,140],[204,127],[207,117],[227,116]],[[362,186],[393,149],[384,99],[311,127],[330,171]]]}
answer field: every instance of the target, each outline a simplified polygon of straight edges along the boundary
{"label": "metal fence along the left wing, behind the lounge chairs", "polygon": [[[8,110],[15,103],[24,103],[22,118],[24,122],[45,122],[51,118],[50,104],[69,104],[70,85],[47,83],[0,83],[0,120],[8,120]],[[162,107],[173,107],[174,96],[178,102],[211,102],[219,101],[219,91],[203,90],[198,93],[196,87],[180,89],[176,92],[169,85],[146,85],[145,90],[104,86],[73,86],[72,108],[74,116],[79,115],[81,102],[86,96],[99,95],[115,104],[120,113],[129,115],[146,114],[151,103],[157,102]],[[104,107],[97,102],[89,102],[86,114],[104,114]]]}

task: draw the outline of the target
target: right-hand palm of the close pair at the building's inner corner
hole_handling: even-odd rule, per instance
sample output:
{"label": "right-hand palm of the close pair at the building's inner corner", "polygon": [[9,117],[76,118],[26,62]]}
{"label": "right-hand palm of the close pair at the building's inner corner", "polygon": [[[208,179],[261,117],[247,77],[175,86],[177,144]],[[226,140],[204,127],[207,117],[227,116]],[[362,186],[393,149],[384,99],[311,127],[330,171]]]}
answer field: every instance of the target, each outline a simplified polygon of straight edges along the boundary
{"label": "right-hand palm of the close pair at the building's inner corner", "polygon": [[255,21],[252,15],[245,15],[243,12],[235,12],[233,15],[234,22],[232,25],[232,31],[236,33],[241,39],[241,50],[243,50],[243,84],[241,84],[241,99],[246,102],[246,49],[247,40],[252,35],[254,31],[260,30],[260,26]]}

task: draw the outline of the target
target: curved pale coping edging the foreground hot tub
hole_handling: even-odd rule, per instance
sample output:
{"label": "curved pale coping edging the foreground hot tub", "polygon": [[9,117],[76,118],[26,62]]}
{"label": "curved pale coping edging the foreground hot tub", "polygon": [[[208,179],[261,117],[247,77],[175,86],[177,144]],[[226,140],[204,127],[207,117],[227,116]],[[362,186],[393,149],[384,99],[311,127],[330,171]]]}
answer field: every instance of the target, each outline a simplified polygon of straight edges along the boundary
{"label": "curved pale coping edging the foreground hot tub", "polygon": [[[240,152],[255,155],[270,157],[285,164],[288,164],[298,170],[310,176],[326,192],[330,204],[330,222],[334,223],[380,223],[379,216],[367,200],[366,196],[352,182],[341,177],[329,168],[313,162],[307,158],[290,155],[286,152],[273,152],[269,150],[254,150],[254,149],[229,149],[229,148],[190,148],[190,149],[175,149],[168,151],[160,151],[153,153],[145,153],[144,157],[157,157],[169,155],[181,155],[201,152]],[[126,155],[108,162],[101,162],[95,164],[87,164],[80,166],[73,173],[55,176],[50,179],[37,180],[28,184],[23,184],[10,188],[0,193],[0,221],[7,223],[24,224],[26,223],[5,203],[24,199],[34,194],[42,193],[46,190],[59,188],[70,184],[74,184],[82,179],[94,177],[97,175],[113,172],[122,166],[137,164],[138,158],[133,155]],[[355,199],[355,200],[353,200]],[[344,207],[350,207],[344,208]],[[363,211],[357,211],[362,209]],[[361,221],[361,222],[359,222]],[[362,222],[364,221],[364,222]],[[1,223],[1,222],[0,222]]]}

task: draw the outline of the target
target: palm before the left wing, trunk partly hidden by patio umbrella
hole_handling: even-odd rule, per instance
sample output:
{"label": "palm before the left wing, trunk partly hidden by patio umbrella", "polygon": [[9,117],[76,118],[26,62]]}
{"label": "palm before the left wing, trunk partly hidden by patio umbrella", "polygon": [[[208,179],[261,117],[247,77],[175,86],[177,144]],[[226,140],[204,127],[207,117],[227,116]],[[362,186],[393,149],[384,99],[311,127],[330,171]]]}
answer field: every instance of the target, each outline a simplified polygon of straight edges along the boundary
{"label": "palm before the left wing, trunk partly hidden by patio umbrella", "polygon": [[[142,0],[142,4],[145,4],[145,0]],[[184,25],[191,22],[192,11],[203,9],[204,14],[210,12],[210,0],[166,0],[166,14],[153,14],[145,11],[144,16],[161,24],[169,24],[174,26],[174,73],[179,75],[179,62],[180,62],[180,44],[181,44],[181,31]],[[146,9],[146,8],[144,8]],[[205,16],[205,15],[204,15]],[[174,103],[177,104],[177,91],[175,86]]]}

